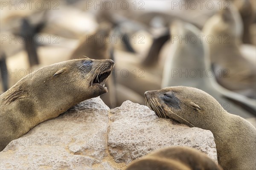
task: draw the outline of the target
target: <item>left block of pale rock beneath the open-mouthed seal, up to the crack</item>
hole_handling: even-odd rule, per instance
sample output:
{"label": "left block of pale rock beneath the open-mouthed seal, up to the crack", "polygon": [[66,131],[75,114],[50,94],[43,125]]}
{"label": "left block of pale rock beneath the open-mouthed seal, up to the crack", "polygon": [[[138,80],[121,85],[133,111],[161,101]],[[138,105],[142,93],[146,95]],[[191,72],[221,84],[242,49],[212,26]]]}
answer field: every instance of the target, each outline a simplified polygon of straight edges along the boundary
{"label": "left block of pale rock beneath the open-mouthed seal, up to the crack", "polygon": [[40,123],[0,152],[0,169],[111,169],[109,110],[93,98]]}

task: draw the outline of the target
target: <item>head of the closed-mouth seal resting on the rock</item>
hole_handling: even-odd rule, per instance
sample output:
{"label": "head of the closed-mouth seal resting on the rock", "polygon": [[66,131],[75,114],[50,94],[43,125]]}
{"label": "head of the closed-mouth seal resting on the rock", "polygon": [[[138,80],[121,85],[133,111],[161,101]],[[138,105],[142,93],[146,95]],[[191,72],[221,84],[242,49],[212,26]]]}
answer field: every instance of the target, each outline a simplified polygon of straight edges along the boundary
{"label": "head of the closed-mouth seal resting on the rock", "polygon": [[[202,93],[212,98],[212,100],[210,102],[205,100],[205,97],[202,97],[204,96]],[[198,117],[199,119],[200,114],[204,111],[202,109],[205,109],[204,105],[207,105],[207,107],[209,107],[207,109],[209,110],[211,110],[210,106],[212,106],[213,101],[215,102],[215,105],[219,105],[219,103],[212,96],[204,91],[185,86],[146,91],[145,99],[148,107],[151,108],[157,116],[164,118],[169,117],[190,127],[195,127],[195,125],[193,125],[193,121],[191,121],[191,116],[193,116],[195,119]]]}

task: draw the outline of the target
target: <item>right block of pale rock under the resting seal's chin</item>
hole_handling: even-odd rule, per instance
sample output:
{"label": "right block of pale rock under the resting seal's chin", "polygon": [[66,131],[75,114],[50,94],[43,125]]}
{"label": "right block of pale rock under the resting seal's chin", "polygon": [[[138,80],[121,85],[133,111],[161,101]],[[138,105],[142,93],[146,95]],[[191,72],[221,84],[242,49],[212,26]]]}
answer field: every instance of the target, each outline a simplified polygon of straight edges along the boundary
{"label": "right block of pale rock under the resting seal's chin", "polygon": [[153,150],[185,145],[201,150],[217,162],[213,134],[171,119],[158,118],[154,111],[130,101],[111,110],[109,151],[116,162],[128,164]]}

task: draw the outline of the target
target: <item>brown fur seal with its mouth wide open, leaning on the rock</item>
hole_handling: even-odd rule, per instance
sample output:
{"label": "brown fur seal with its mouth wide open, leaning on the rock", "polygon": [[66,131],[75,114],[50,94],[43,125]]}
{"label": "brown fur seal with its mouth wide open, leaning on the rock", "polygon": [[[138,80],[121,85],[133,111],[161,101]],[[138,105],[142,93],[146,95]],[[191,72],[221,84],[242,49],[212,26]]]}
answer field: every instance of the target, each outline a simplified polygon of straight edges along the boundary
{"label": "brown fur seal with its mouth wide open, leaning on the rock", "polygon": [[0,96],[0,150],[32,127],[108,92],[113,60],[73,59],[28,74]]}

